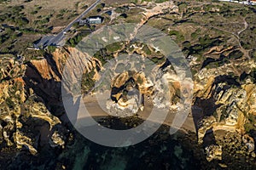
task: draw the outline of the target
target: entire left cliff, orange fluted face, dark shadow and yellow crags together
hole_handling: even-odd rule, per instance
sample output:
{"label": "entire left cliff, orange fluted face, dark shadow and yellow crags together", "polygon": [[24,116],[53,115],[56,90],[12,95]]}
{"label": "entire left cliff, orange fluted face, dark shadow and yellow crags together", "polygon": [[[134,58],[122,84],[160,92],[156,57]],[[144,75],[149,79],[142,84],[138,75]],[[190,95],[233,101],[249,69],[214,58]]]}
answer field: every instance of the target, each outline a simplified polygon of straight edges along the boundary
{"label": "entire left cliff, orange fluted face, dark shadow and yellow crags together", "polygon": [[[87,59],[76,48],[60,48],[44,59],[22,64],[15,56],[1,59],[0,83],[0,143],[21,149],[26,146],[33,154],[38,144],[64,147],[65,139],[58,130],[57,116],[61,105],[61,76],[70,56],[78,55],[77,64],[88,72],[96,68],[97,59]],[[85,59],[85,60],[83,60]],[[82,63],[81,63],[82,61]],[[101,65],[98,65],[101,66]],[[73,77],[75,78],[75,77]],[[45,124],[47,122],[48,124]]]}

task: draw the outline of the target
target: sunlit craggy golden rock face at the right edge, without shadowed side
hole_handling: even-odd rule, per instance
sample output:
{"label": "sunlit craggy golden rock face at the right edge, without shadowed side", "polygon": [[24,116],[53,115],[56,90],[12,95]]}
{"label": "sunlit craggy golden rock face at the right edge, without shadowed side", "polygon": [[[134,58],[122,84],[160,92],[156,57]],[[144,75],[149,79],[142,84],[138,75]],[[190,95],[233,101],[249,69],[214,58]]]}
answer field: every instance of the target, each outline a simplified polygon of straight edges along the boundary
{"label": "sunlit craggy golden rock face at the right edge, without shadowed side", "polygon": [[[212,82],[212,80],[210,81]],[[204,95],[204,97],[212,98],[215,101],[214,105],[218,105],[218,108],[212,113],[214,121],[209,121],[209,117],[206,117],[199,123],[198,137],[200,143],[204,133],[210,128],[213,131],[222,129],[236,132],[238,130],[244,133],[245,116],[253,114],[255,111],[254,102],[252,103],[255,92],[252,87],[255,87],[255,85],[248,84],[242,85],[241,88],[235,88],[228,83],[218,83],[212,85],[211,88],[207,88],[207,95]],[[203,99],[205,99],[204,97]]]}

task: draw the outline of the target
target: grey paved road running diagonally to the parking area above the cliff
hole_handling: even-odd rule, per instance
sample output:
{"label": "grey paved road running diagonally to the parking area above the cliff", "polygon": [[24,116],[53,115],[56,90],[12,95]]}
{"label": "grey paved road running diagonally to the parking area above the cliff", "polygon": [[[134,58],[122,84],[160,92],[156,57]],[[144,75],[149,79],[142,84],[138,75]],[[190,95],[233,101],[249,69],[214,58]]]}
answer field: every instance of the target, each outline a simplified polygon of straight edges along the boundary
{"label": "grey paved road running diagonally to the parking area above the cliff", "polygon": [[[81,19],[83,19],[83,18],[84,18],[84,15],[87,14],[87,13],[89,13],[90,10],[93,9],[93,8],[95,8],[96,5],[97,5],[98,3],[100,3],[100,2],[101,2],[101,0],[96,0],[95,3],[92,3],[89,8],[86,8],[82,14],[80,14],[75,20],[73,20],[72,22],[70,22],[70,23],[66,26],[66,28],[64,28],[64,29],[63,29],[60,33],[58,33],[55,37],[51,38],[50,40],[49,40],[48,38],[45,38],[45,39],[48,39],[48,42],[43,42],[44,46],[59,45],[59,43],[61,42],[61,40],[63,40],[63,38],[65,37],[64,32],[69,31],[70,28],[73,26],[74,23],[79,22]],[[42,39],[44,39],[44,38],[42,38]],[[42,42],[41,42],[41,43],[42,43]],[[37,45],[35,45],[35,46],[37,46]]]}

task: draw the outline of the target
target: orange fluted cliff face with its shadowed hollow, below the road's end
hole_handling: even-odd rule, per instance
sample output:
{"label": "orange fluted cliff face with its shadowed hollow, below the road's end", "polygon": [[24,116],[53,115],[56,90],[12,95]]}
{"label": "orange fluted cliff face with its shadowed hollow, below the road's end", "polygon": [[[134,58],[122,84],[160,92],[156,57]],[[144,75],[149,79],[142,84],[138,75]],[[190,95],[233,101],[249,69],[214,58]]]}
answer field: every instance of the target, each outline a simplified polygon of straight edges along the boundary
{"label": "orange fluted cliff face with its shadowed hollow, below the road's end", "polygon": [[[69,60],[68,60],[69,59]],[[75,65],[69,65],[71,61]],[[77,82],[78,75],[85,72],[96,71],[96,66],[102,65],[98,59],[89,57],[77,48],[57,48],[53,54],[45,59],[32,60],[27,64],[25,82],[36,94],[44,98],[46,105],[58,105],[61,102],[61,78],[65,67],[72,78],[66,82],[69,87]]]}

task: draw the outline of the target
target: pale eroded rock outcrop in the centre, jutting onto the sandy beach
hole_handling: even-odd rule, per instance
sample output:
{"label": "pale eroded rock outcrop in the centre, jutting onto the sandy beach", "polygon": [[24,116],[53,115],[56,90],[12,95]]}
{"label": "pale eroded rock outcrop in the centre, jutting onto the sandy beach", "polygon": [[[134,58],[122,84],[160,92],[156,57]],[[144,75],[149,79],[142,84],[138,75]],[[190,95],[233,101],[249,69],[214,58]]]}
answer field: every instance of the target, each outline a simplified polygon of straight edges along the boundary
{"label": "pale eroded rock outcrop in the centre, jutting onto the sandy beach", "polygon": [[165,62],[161,65],[154,65],[153,62],[151,65],[145,65],[148,61],[146,57],[139,59],[134,55],[129,57],[129,71],[119,72],[121,68],[119,65],[124,65],[125,62],[119,58],[113,61],[111,67],[107,66],[110,75],[103,77],[102,80],[100,91],[106,91],[108,89],[106,84],[111,84],[111,97],[106,105],[113,116],[132,116],[139,110],[143,111],[145,100],[156,108],[177,110],[181,107],[177,106],[177,102],[185,93],[179,93],[180,77],[174,73],[171,65],[163,68],[161,66],[165,65]]}

